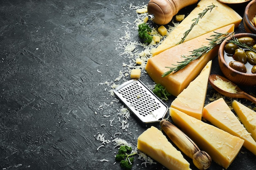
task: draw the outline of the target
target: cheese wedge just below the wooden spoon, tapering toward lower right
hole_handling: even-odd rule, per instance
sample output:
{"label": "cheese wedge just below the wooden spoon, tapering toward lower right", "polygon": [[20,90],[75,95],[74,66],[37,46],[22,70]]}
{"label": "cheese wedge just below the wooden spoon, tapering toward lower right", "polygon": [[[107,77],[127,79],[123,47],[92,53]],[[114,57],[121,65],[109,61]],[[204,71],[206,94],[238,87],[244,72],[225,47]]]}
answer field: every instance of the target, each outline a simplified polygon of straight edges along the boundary
{"label": "cheese wedge just below the wooden spoon, tapering toward lower right", "polygon": [[245,140],[243,146],[256,155],[256,142],[223,98],[207,104],[203,110],[203,117],[214,126]]}

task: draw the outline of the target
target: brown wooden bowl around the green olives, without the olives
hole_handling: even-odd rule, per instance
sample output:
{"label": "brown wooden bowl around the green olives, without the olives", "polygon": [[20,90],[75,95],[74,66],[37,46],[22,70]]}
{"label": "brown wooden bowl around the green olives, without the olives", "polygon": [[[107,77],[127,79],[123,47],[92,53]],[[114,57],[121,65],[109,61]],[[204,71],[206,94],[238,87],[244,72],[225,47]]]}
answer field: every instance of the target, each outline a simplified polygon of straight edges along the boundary
{"label": "brown wooden bowl around the green olives, without the olives", "polygon": [[[241,37],[252,37],[256,40],[256,34],[252,33],[238,33],[232,35],[234,38]],[[227,38],[220,44],[220,48],[218,51],[218,62],[220,65],[220,70],[222,73],[229,79],[231,82],[242,86],[256,86],[256,74],[253,73],[242,73],[240,71],[236,71],[235,69],[229,66],[224,59],[224,49],[227,44],[227,40],[231,40],[231,37]]]}

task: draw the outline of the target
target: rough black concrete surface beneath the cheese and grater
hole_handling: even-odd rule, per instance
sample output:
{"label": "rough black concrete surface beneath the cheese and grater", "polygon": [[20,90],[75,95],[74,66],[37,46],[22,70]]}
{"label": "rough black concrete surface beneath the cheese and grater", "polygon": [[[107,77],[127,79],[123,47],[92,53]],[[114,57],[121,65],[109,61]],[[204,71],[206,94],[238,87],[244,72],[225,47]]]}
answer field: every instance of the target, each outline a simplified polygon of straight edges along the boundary
{"label": "rough black concrete surface beneath the cheese and grater", "polygon": [[[97,150],[101,145],[97,136],[104,134],[110,140],[121,137],[136,147],[137,137],[151,125],[141,124],[131,115],[129,128],[121,130],[117,118],[121,103],[111,104],[115,99],[108,92],[111,88],[101,83],[114,81],[122,63],[127,62],[117,47],[125,34],[124,22],[137,17],[130,4],[146,3],[0,1],[1,170],[121,169],[115,164],[115,145]],[[240,15],[244,8],[234,6]],[[183,9],[183,13],[189,10]],[[243,24],[236,32],[245,32]],[[136,33],[132,40],[138,40]],[[216,59],[213,64],[212,73],[221,74]],[[141,79],[153,84],[146,75]],[[242,88],[255,92],[255,88]],[[207,96],[213,93],[209,86]],[[115,126],[110,126],[114,117]],[[159,128],[158,124],[153,126]],[[115,136],[117,132],[122,134]],[[165,169],[159,163],[145,168],[141,162],[136,159],[132,169]],[[222,167],[213,163],[209,169]],[[242,148],[229,167],[238,169],[255,170],[256,156]]]}

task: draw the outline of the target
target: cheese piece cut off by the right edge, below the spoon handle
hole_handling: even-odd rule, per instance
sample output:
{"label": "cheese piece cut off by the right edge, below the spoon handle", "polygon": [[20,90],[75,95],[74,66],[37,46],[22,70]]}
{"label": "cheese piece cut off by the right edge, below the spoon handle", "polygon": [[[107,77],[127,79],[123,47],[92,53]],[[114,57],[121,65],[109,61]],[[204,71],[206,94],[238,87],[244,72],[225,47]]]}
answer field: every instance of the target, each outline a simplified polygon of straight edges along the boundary
{"label": "cheese piece cut off by the right edge, below the spoon handle", "polygon": [[232,107],[240,121],[256,141],[256,112],[236,100],[232,102]]}

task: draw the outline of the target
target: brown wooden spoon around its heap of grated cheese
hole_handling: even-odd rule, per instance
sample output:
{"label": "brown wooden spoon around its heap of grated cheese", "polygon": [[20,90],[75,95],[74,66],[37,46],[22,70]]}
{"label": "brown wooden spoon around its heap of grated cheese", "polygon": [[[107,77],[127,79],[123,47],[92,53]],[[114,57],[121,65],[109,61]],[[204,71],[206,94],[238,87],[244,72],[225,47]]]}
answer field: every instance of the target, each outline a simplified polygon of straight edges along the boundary
{"label": "brown wooden spoon around its heap of grated cheese", "polygon": [[225,95],[227,97],[232,97],[232,98],[244,98],[244,99],[247,99],[251,102],[254,102],[256,104],[256,98],[245,93],[244,91],[242,91],[238,86],[236,86],[236,84],[234,84],[233,82],[231,82],[231,84],[233,84],[234,86],[236,86],[236,90],[237,90],[237,93],[229,93],[227,91],[224,91],[222,90],[221,88],[217,87],[215,84],[214,84],[214,80],[216,80],[217,78],[216,77],[219,77],[220,79],[222,79],[223,81],[225,82],[231,82],[229,81],[229,79],[226,79],[225,77],[222,77],[220,75],[216,75],[216,74],[212,74],[209,76],[209,82],[211,84],[211,86],[216,90],[218,91],[220,94],[222,95]]}

